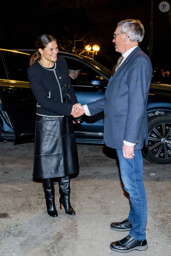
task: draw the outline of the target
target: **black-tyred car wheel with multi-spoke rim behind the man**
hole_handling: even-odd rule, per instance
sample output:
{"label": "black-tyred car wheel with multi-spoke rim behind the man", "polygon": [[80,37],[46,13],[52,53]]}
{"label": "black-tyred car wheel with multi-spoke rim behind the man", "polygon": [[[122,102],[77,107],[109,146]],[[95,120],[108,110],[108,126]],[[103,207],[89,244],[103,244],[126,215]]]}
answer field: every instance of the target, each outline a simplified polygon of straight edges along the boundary
{"label": "black-tyred car wheel with multi-spoke rim behind the man", "polygon": [[148,119],[149,136],[143,155],[153,163],[171,163],[171,116],[154,115]]}

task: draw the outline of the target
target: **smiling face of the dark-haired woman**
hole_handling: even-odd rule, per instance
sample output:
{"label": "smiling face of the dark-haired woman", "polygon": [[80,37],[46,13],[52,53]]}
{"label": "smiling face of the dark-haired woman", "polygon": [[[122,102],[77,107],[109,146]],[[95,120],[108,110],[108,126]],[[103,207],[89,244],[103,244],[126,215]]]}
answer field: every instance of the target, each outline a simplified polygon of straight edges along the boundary
{"label": "smiling face of the dark-haired woman", "polygon": [[59,52],[56,41],[47,44],[45,49],[39,49],[42,54],[42,58],[55,62],[57,60],[57,53]]}

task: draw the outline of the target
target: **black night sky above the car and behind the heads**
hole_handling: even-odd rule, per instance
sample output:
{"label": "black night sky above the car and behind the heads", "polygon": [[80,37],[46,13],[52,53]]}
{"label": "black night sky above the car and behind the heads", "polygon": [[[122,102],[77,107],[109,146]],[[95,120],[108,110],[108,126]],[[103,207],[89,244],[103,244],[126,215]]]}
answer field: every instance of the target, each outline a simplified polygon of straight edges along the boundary
{"label": "black night sky above the car and behind the heads", "polygon": [[[171,42],[170,10],[161,12],[161,1],[153,0],[153,68],[170,70],[167,64]],[[40,34],[51,34],[57,43],[81,39],[76,46],[98,44],[100,51],[95,60],[111,68],[119,57],[115,52],[113,32],[117,23],[124,19],[139,19],[144,25],[145,36],[139,44],[149,55],[149,23],[151,1],[134,0],[25,0],[1,1],[0,47],[5,49],[34,49]],[[170,57],[169,57],[170,58]]]}

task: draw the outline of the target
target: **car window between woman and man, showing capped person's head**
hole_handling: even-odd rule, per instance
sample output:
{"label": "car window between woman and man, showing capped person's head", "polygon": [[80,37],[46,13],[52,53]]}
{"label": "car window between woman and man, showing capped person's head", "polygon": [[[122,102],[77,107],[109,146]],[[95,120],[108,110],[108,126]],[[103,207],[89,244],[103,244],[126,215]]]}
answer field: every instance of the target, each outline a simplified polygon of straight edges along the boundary
{"label": "car window between woman and man, showing capped person's head", "polygon": [[[93,70],[93,68],[88,67],[87,65],[70,58],[66,58],[65,60],[68,66],[73,65],[78,67],[80,74],[75,80],[71,79],[71,84],[74,87],[75,91],[86,91],[86,92],[97,92],[99,90],[105,90],[107,85],[107,80],[102,77],[98,72]],[[95,82],[97,81],[97,82]],[[100,84],[96,86],[96,84]]]}

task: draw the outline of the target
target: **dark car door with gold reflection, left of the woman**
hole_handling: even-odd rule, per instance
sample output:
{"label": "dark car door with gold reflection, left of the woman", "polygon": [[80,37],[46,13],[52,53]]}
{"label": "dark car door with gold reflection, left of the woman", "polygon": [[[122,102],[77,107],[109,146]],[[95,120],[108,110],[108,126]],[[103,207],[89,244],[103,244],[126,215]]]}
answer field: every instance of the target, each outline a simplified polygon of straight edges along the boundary
{"label": "dark car door with gold reflection, left of the woman", "polygon": [[1,49],[0,61],[6,68],[0,77],[1,108],[14,130],[14,144],[30,141],[35,132],[36,102],[27,78],[29,54]]}

